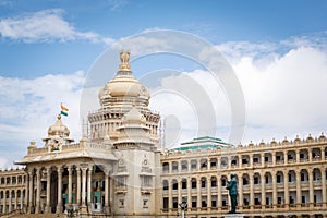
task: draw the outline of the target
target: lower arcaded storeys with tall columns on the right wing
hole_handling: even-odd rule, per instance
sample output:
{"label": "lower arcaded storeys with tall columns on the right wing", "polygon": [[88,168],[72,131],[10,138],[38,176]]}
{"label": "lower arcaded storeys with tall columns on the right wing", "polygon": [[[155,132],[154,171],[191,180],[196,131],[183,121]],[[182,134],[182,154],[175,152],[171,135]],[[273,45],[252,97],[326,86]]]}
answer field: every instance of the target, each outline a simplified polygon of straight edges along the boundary
{"label": "lower arcaded storeys with tall columns on the right wing", "polygon": [[[319,173],[316,172],[317,174],[314,175],[314,170]],[[307,171],[307,178],[303,177],[303,171]],[[289,181],[291,172],[295,172],[295,178]],[[191,214],[199,211],[217,211],[219,214],[227,211],[230,203],[226,181],[229,180],[230,173],[203,172],[202,174],[164,175],[164,211],[174,213],[179,208],[175,203],[181,203],[185,199],[189,205],[187,210]],[[250,214],[262,209],[265,209],[265,211],[276,211],[277,209],[289,211],[292,207],[295,207],[298,210],[327,209],[325,165],[307,168],[243,170],[233,173],[235,173],[239,182],[238,209],[240,211]],[[282,178],[278,182],[277,177],[280,177],[281,173]],[[259,180],[254,182],[254,178],[257,174],[259,174]],[[243,184],[244,177],[249,178],[246,184]],[[303,181],[302,179],[305,180]],[[213,183],[213,180],[216,182]],[[184,189],[182,189],[182,182],[185,181],[186,185],[183,184]],[[195,181],[196,187],[193,189],[192,185],[194,186],[194,184],[192,182],[194,183]],[[308,198],[305,198],[304,192],[308,192]],[[290,202],[290,199],[294,202]],[[194,203],[195,201],[196,203]]]}

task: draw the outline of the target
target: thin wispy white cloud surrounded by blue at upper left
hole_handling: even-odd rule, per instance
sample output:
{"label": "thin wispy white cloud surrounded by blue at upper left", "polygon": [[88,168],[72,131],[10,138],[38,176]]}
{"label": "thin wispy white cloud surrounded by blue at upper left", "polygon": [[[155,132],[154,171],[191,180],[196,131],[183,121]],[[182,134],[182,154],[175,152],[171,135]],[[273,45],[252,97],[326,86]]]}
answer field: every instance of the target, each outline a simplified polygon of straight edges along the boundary
{"label": "thin wispy white cloud surrounded by blue at upper left", "polygon": [[43,10],[33,14],[0,20],[3,38],[24,43],[49,43],[84,39],[92,43],[112,44],[113,39],[101,37],[95,32],[78,32],[63,17],[63,10]]}

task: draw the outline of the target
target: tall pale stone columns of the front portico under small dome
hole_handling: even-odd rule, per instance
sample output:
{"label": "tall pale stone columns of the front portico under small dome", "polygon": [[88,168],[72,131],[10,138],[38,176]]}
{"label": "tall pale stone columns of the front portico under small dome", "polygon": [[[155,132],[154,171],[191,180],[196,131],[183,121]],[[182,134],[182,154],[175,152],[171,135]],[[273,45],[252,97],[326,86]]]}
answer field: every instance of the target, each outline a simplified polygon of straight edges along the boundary
{"label": "tall pale stone columns of the front portico under small dome", "polygon": [[[66,170],[66,171],[65,171]],[[65,173],[63,173],[65,171]],[[26,202],[28,203],[29,213],[53,213],[53,203],[56,205],[56,213],[62,213],[68,207],[77,206],[78,208],[92,209],[92,179],[93,179],[94,165],[81,164],[78,166],[49,166],[49,167],[35,167],[27,170],[27,182],[26,182]],[[66,173],[68,172],[68,173]],[[73,177],[74,174],[74,177]],[[53,177],[57,179],[53,180]],[[52,177],[52,179],[51,179]],[[41,207],[41,182],[46,180],[45,189],[45,208]],[[66,181],[68,196],[63,203],[63,181]],[[104,170],[105,180],[105,208],[109,208],[109,171]],[[55,182],[55,183],[53,183]],[[73,193],[74,184],[74,193]],[[75,187],[76,185],[76,187]],[[57,190],[57,194],[53,191]],[[74,194],[74,202],[73,202]],[[53,199],[51,196],[56,196]]]}

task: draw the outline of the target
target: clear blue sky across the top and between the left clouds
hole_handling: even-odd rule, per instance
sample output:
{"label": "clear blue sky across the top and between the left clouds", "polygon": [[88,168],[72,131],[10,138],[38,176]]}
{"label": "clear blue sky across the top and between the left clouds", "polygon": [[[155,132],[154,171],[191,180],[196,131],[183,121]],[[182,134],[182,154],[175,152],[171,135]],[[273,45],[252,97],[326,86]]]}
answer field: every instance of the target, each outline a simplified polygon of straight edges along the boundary
{"label": "clear blue sky across the top and between the left clouds", "polygon": [[[116,40],[158,27],[191,32],[213,44],[230,40],[277,41],[322,32],[327,26],[326,1],[82,0],[77,3],[2,0],[0,4],[2,20],[22,19],[44,10],[58,10],[53,13],[76,32],[93,32],[99,37]],[[26,44],[22,38],[1,38],[1,75],[31,78],[48,73],[86,71],[107,46],[83,37],[35,40]],[[66,58],[76,53],[83,56]]]}

